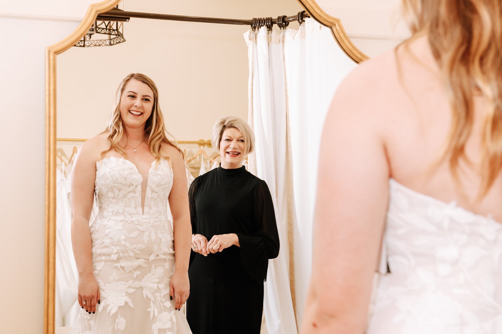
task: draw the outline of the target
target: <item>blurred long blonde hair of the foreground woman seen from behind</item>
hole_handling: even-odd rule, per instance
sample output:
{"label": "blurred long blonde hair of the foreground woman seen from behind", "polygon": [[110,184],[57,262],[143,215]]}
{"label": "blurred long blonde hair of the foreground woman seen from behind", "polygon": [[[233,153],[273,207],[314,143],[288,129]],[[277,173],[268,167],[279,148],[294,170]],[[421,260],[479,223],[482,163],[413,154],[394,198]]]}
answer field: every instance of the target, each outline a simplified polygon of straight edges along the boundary
{"label": "blurred long blonde hair of the foreground woman seen from behind", "polygon": [[486,195],[502,167],[502,3],[500,0],[403,0],[413,34],[427,34],[452,108],[443,151],[458,180],[459,161],[473,124],[473,96],[486,102],[482,125],[481,188]]}

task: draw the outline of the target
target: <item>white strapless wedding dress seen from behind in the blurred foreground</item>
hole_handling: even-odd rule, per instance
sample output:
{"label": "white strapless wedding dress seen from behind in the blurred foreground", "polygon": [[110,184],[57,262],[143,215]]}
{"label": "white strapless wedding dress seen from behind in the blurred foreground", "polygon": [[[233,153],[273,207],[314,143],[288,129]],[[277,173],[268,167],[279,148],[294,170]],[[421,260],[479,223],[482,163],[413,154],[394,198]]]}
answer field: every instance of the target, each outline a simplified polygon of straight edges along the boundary
{"label": "white strapless wedding dress seen from behind in the blurred foreground", "polygon": [[382,251],[366,334],[502,333],[502,224],[391,180]]}

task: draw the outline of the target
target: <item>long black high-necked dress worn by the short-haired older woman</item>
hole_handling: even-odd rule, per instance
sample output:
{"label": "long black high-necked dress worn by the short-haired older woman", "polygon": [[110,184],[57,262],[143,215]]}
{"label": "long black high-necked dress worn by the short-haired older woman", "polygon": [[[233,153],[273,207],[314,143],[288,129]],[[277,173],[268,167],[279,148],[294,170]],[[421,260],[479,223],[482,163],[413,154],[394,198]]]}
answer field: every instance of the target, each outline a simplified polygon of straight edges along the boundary
{"label": "long black high-necked dress worn by the short-haired older woman", "polygon": [[263,282],[279,253],[274,205],[267,183],[245,167],[218,167],[189,190],[192,233],[209,241],[235,233],[239,245],[190,255],[187,319],[193,334],[260,334]]}

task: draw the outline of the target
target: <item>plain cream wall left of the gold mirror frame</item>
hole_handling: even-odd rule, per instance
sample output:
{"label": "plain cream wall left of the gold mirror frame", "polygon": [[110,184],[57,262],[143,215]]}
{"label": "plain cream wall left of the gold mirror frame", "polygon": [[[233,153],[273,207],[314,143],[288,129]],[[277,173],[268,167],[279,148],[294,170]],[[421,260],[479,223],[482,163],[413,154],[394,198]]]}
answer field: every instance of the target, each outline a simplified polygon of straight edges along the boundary
{"label": "plain cream wall left of the gold mirror frame", "polygon": [[[32,17],[38,1],[2,5],[0,332],[41,333],[44,299],[45,48],[69,35],[90,1]],[[22,6],[21,6],[22,4]],[[50,7],[50,4],[48,4]],[[10,19],[6,18],[10,17]],[[20,19],[12,19],[20,18]],[[24,18],[24,19],[21,19]],[[26,19],[29,18],[29,19]],[[8,52],[8,51],[11,52]]]}

